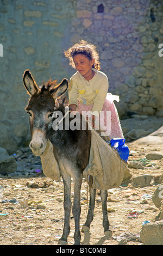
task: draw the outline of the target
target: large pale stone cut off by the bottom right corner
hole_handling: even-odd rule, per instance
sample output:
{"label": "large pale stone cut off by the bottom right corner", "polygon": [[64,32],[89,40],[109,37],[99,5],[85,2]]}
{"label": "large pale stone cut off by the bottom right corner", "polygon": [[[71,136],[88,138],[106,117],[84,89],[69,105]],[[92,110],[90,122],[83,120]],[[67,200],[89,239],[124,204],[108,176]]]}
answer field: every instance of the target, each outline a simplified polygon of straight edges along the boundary
{"label": "large pale stone cut off by the bottom right corner", "polygon": [[143,225],[140,239],[144,245],[163,245],[163,220]]}

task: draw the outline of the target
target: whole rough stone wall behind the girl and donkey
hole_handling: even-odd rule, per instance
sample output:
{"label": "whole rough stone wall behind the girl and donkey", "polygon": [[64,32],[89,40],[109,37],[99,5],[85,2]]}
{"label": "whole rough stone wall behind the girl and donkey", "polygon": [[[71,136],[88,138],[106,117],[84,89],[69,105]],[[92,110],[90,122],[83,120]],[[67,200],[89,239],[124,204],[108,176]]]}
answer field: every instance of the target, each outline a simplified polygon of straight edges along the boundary
{"label": "whole rough stone wall behind the girl and donkey", "polygon": [[120,95],[120,117],[163,115],[162,13],[158,0],[2,0],[0,147],[12,153],[30,139],[24,70],[38,84],[70,78],[63,50],[80,39],[96,44],[109,92]]}

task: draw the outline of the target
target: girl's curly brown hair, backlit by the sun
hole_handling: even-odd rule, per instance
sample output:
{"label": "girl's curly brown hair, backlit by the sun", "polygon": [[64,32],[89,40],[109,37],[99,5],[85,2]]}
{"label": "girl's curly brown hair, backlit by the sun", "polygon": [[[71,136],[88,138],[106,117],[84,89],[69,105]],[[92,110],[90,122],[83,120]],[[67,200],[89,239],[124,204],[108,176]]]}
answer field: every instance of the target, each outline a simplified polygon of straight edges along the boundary
{"label": "girl's curly brown hair, backlit by the sun", "polygon": [[96,46],[88,44],[85,40],[80,40],[79,43],[74,44],[67,51],[64,50],[65,57],[70,61],[70,65],[75,68],[73,57],[77,54],[84,54],[89,60],[95,59],[95,63],[92,68],[100,70],[99,54],[96,50]]}

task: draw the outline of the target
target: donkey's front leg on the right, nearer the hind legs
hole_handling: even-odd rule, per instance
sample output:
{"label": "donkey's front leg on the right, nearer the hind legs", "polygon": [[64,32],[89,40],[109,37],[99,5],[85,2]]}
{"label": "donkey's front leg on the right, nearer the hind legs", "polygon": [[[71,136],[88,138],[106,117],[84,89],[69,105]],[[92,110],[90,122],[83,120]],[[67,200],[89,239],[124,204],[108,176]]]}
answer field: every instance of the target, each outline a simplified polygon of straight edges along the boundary
{"label": "donkey's front leg on the right, nearer the hind legs", "polygon": [[74,182],[74,200],[72,206],[72,214],[75,222],[75,232],[74,232],[74,245],[80,245],[81,235],[80,235],[80,189],[82,185],[83,175],[78,174],[73,179]]}

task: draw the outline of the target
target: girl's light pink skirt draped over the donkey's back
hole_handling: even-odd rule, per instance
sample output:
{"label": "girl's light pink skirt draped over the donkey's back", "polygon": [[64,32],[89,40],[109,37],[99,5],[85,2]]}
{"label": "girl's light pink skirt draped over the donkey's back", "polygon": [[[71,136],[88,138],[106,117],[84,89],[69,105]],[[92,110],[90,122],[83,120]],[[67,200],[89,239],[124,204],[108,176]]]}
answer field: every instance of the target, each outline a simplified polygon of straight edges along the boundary
{"label": "girl's light pink skirt draped over the donkey's back", "polygon": [[[116,106],[112,100],[112,97],[107,96],[107,98],[108,99],[105,99],[104,101],[101,114],[99,115],[99,117],[95,118],[95,130],[96,126],[99,126],[103,131],[105,131],[104,136],[109,136],[110,139],[124,138]],[[86,112],[91,111],[92,107],[93,104],[83,105],[79,102],[77,111],[80,114],[86,115]]]}

